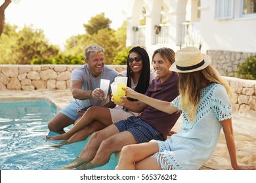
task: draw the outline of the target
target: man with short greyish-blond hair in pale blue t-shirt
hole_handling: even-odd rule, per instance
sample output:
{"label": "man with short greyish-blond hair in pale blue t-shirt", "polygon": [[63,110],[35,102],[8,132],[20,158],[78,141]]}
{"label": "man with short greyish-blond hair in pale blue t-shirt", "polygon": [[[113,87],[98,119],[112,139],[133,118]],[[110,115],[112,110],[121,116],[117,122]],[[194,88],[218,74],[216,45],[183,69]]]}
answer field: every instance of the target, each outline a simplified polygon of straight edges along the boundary
{"label": "man with short greyish-blond hair in pale blue t-shirt", "polygon": [[92,105],[113,108],[116,105],[100,89],[100,79],[108,79],[110,83],[118,75],[117,71],[104,65],[104,48],[90,44],[85,48],[85,64],[77,67],[71,74],[71,92],[74,101],[66,106],[49,122],[48,128],[56,133],[64,133],[67,127],[79,118],[77,112],[81,108]]}

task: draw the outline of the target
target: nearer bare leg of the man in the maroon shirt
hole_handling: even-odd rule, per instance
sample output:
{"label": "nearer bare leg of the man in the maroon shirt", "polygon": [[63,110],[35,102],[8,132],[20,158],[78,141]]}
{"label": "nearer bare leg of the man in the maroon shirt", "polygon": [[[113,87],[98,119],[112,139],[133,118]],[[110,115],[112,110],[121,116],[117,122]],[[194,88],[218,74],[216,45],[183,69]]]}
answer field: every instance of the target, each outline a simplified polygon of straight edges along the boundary
{"label": "nearer bare leg of the man in the maroon shirt", "polygon": [[[123,131],[121,133],[117,133],[112,137],[102,141],[100,144],[95,158],[92,159],[91,162],[83,165],[82,169],[92,169],[95,167],[100,167],[106,163],[108,163],[110,156],[112,153],[120,151],[123,146],[127,144],[136,144],[137,141],[135,137],[129,131]],[[83,154],[80,154],[79,157],[83,157]]]}

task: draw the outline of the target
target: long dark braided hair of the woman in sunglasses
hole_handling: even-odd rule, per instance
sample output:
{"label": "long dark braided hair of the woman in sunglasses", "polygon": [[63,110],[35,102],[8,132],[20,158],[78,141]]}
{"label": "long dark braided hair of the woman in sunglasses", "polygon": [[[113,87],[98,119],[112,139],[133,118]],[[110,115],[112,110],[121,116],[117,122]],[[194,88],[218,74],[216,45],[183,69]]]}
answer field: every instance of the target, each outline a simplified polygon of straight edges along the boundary
{"label": "long dark braided hair of the woman in sunglasses", "polygon": [[[133,52],[139,54],[142,61],[142,66],[143,66],[135,91],[144,94],[146,93],[146,90],[148,89],[149,82],[150,82],[150,58],[146,50],[144,48],[141,48],[140,46],[131,48],[131,50],[129,51],[128,57]],[[129,66],[128,61],[126,61],[126,64],[127,64],[127,78],[128,78],[127,86],[131,88],[131,68]],[[129,100],[134,101],[134,99],[129,99]]]}

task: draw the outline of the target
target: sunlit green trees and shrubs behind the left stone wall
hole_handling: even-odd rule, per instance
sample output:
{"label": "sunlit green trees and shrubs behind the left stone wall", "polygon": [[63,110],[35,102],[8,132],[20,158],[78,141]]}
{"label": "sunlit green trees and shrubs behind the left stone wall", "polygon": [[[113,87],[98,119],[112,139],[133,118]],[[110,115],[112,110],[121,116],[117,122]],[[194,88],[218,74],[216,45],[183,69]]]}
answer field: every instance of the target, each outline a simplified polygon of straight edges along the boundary
{"label": "sunlit green trees and shrubs behind the left stone wall", "polygon": [[127,24],[123,22],[117,31],[110,29],[110,24],[104,13],[96,15],[84,25],[86,33],[67,39],[65,50],[60,52],[41,29],[30,25],[17,30],[16,25],[6,23],[0,39],[0,64],[83,64],[85,46],[93,43],[105,48],[105,63],[112,64],[125,49]]}

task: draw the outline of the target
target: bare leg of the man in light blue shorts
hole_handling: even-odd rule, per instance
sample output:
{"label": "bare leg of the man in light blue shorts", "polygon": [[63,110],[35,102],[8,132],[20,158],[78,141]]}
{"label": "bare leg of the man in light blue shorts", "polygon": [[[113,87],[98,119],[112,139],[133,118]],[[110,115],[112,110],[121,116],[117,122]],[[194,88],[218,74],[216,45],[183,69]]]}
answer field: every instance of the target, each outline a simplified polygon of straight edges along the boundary
{"label": "bare leg of the man in light blue shorts", "polygon": [[50,131],[54,131],[56,133],[64,133],[64,127],[74,124],[74,122],[75,121],[68,118],[68,116],[58,112],[58,114],[56,114],[56,116],[54,116],[49,122],[48,128]]}

